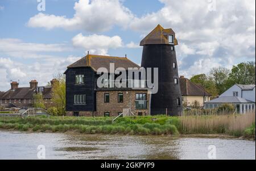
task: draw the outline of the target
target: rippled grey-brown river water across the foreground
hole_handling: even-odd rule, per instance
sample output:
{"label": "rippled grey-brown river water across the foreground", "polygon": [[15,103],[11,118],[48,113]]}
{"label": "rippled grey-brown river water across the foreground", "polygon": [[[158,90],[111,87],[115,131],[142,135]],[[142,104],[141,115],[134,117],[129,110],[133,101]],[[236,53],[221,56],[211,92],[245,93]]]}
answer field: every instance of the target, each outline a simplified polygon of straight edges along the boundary
{"label": "rippled grey-brown river water across the foreground", "polygon": [[39,145],[44,145],[46,159],[193,160],[209,159],[210,152],[220,160],[255,160],[255,141],[239,139],[0,131],[0,159],[38,159]]}

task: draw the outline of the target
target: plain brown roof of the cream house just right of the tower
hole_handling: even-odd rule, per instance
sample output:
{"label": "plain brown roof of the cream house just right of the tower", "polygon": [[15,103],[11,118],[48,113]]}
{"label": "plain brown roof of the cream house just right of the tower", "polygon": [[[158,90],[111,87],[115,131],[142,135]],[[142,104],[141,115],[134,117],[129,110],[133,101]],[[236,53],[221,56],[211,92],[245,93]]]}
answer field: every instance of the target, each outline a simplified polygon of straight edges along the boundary
{"label": "plain brown roof of the cream house just right of the tower", "polygon": [[193,83],[187,78],[179,78],[182,95],[212,96],[203,86]]}

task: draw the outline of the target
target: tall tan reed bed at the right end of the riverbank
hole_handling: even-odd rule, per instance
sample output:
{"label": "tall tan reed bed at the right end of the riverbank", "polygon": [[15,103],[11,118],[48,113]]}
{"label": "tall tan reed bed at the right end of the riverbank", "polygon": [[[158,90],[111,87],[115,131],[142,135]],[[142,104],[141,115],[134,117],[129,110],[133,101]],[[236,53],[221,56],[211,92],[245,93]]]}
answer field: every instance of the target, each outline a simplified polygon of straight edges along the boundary
{"label": "tall tan reed bed at the right end of the riverbank", "polygon": [[243,131],[255,123],[255,112],[243,115],[181,116],[181,134],[232,134],[241,136]]}

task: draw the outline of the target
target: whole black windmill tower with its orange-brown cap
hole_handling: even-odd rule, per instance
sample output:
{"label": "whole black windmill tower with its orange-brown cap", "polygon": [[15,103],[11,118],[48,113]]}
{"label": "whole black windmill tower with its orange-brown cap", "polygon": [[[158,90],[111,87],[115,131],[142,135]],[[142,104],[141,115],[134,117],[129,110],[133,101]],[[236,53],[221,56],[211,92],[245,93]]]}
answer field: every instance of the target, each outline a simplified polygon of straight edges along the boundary
{"label": "whole black windmill tower with its orange-brown cap", "polygon": [[151,96],[151,114],[180,115],[182,97],[175,45],[175,32],[158,25],[142,41],[142,62],[144,68],[158,68],[158,93]]}

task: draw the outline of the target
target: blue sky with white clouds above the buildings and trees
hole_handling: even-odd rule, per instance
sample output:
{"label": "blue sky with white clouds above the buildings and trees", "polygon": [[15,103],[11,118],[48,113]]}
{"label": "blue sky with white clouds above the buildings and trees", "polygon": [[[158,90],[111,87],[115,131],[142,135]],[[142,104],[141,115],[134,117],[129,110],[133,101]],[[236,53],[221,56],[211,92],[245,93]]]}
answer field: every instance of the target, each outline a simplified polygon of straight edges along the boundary
{"label": "blue sky with white clouds above the buildings and trees", "polygon": [[0,91],[45,86],[87,51],[141,64],[158,24],[176,32],[187,78],[255,61],[254,0],[0,0]]}

